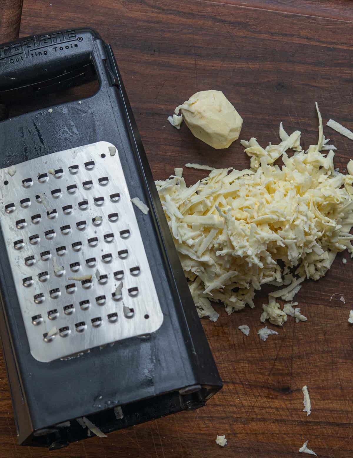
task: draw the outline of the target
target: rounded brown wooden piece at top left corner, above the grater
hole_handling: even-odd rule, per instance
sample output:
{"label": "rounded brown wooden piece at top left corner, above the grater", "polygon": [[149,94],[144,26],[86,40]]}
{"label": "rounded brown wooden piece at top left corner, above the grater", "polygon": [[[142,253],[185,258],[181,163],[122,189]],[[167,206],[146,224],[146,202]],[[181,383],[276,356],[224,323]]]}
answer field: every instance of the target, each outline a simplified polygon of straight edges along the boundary
{"label": "rounded brown wooden piece at top left corner, above the grater", "polygon": [[22,4],[23,0],[0,0],[0,43],[18,38]]}

